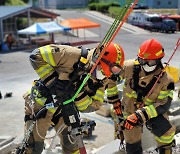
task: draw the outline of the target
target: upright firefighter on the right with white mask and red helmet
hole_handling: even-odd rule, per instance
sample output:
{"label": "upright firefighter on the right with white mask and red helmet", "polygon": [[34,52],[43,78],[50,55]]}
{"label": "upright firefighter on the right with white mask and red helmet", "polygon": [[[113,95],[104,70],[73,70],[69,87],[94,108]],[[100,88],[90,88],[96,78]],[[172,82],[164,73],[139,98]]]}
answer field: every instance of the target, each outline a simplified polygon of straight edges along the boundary
{"label": "upright firefighter on the right with white mask and red helmet", "polygon": [[154,134],[159,154],[172,154],[175,126],[169,122],[167,112],[173,99],[173,79],[163,72],[148,94],[163,69],[161,59],[164,55],[162,44],[156,39],[149,39],[140,46],[136,60],[124,63],[121,109],[128,154],[143,153],[141,133],[144,124]]}

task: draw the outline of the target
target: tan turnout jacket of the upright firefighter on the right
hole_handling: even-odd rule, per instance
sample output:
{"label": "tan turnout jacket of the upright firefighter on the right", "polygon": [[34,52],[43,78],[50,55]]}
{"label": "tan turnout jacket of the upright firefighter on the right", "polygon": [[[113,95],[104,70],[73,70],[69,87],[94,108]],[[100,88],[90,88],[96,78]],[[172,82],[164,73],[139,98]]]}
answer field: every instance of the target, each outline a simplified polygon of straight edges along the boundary
{"label": "tan turnout jacket of the upright firefighter on the right", "polygon": [[[135,67],[138,67],[139,70],[135,69]],[[123,115],[125,117],[138,111],[143,121],[146,122],[151,118],[168,112],[171,100],[173,99],[174,82],[167,72],[162,74],[149,97],[146,98],[161,70],[159,68],[146,75],[136,60],[125,62],[121,76],[125,79],[122,98]],[[135,71],[137,71],[136,75]],[[141,102],[138,102],[138,99]]]}

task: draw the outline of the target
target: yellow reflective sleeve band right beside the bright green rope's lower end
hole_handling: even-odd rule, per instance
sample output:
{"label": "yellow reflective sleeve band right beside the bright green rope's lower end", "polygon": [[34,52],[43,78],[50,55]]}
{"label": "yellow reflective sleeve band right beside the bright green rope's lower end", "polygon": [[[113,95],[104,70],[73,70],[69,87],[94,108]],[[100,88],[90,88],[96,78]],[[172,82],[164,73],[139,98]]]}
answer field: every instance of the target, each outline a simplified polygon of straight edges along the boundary
{"label": "yellow reflective sleeve band right beside the bright green rope's lower end", "polygon": [[87,107],[92,104],[92,99],[89,96],[86,96],[85,98],[86,99],[84,101],[75,102],[77,109],[80,111],[86,110]]}

